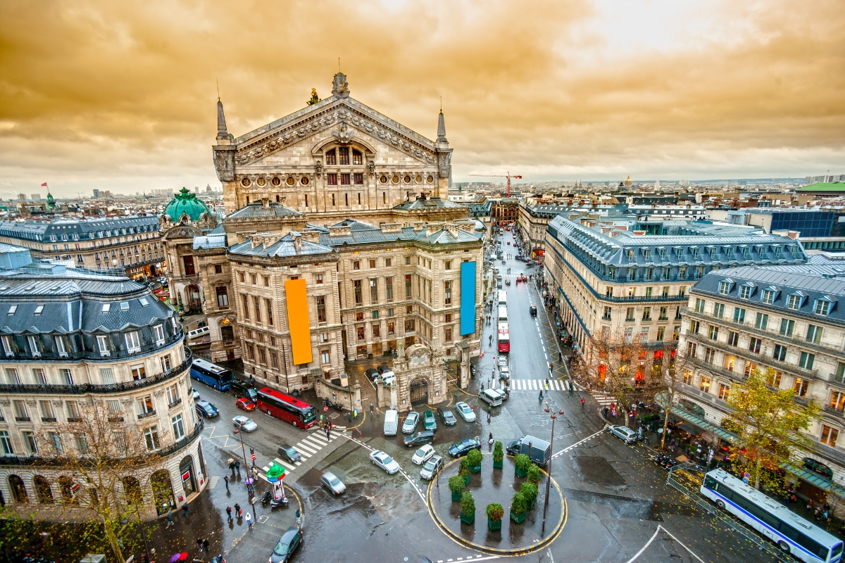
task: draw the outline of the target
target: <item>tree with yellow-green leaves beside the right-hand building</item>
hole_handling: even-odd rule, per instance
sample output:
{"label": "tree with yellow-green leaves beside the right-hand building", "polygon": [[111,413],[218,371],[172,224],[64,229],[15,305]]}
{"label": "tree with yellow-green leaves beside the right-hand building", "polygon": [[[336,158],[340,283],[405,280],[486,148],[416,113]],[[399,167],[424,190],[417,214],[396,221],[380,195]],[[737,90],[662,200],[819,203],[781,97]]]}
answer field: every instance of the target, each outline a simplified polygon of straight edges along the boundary
{"label": "tree with yellow-green leaves beside the right-hand building", "polygon": [[755,489],[760,481],[777,487],[774,472],[781,463],[788,462],[792,452],[810,449],[810,438],[804,434],[819,418],[820,407],[795,397],[794,389],[775,389],[769,386],[774,371],[766,374],[754,370],[744,382],[731,388],[728,395],[728,420],[738,430],[732,454],[737,468],[751,475]]}

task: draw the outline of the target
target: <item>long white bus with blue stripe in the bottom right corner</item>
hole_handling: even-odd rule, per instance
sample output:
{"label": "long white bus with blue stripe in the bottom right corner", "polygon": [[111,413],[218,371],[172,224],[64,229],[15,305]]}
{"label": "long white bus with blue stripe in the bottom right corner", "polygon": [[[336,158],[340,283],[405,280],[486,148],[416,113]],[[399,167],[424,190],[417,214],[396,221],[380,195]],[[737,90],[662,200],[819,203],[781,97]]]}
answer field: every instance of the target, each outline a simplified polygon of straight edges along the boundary
{"label": "long white bus with blue stripe in the bottom right corner", "polygon": [[814,563],[842,560],[842,540],[799,517],[754,487],[745,485],[724,469],[716,469],[704,476],[701,494],[771,539],[784,553]]}

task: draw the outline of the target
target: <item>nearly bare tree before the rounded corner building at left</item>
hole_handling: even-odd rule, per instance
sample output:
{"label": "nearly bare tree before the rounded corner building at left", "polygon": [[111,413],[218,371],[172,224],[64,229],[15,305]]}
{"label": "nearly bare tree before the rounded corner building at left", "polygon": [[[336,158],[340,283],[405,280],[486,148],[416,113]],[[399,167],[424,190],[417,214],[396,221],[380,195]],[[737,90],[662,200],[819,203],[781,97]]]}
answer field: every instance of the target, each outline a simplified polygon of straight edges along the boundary
{"label": "nearly bare tree before the rounded corner building at left", "polygon": [[[124,425],[97,400],[81,403],[67,425],[40,430],[35,436],[41,467],[58,481],[55,504],[99,520],[118,561],[125,560],[119,533],[127,522],[137,524],[144,507],[155,502],[154,494],[144,493],[140,484],[161,468],[155,450],[164,436],[161,429],[149,427],[144,432]],[[46,487],[40,488],[36,480],[35,493],[42,502],[52,501],[46,479],[44,483]]]}

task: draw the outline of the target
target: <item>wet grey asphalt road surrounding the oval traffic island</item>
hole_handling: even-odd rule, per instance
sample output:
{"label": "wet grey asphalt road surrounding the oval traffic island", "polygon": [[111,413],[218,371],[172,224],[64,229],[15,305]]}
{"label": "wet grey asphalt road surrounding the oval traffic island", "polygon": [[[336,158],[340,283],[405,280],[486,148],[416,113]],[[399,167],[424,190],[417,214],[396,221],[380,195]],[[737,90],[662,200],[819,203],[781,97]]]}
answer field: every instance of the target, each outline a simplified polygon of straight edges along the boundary
{"label": "wet grey asphalt road surrounding the oval traffic island", "polygon": [[[511,249],[515,253],[512,245],[503,243],[503,247],[504,252]],[[504,276],[508,265],[514,278],[521,271],[532,272],[524,263],[510,260],[504,266],[497,263]],[[555,344],[546,336],[548,328],[542,324],[547,322],[542,298],[534,287],[516,284],[514,280],[510,286],[503,284],[503,290],[507,291],[509,303],[512,379],[542,381],[548,376],[548,360],[554,360],[557,365],[558,355]],[[531,304],[540,309],[538,317],[529,314]],[[478,362],[478,377],[472,380],[470,393],[477,394],[480,382],[488,386],[494,356],[498,355],[486,344],[494,328],[494,323],[484,327],[485,355]],[[221,409],[221,420],[214,423],[217,437],[211,440],[218,447],[226,448],[227,443],[227,449],[232,449],[235,438],[229,420],[241,414],[233,406],[234,399],[228,395],[215,400],[215,395],[221,393],[199,385],[198,388],[203,398],[209,398]],[[513,390],[502,407],[492,409],[488,423],[486,405],[482,407],[477,397],[453,393],[448,403],[453,413],[455,402],[466,401],[476,409],[477,421],[466,423],[458,417],[457,425],[447,427],[438,420],[435,450],[448,457],[450,444],[473,436],[480,436],[486,442],[488,432],[505,442],[525,434],[548,439],[552,421],[543,412],[545,405],[537,395],[538,391]],[[569,514],[563,532],[550,547],[518,559],[738,563],[771,560],[761,556],[748,540],[738,539],[692,509],[689,501],[666,485],[666,473],[648,461],[645,448],[626,446],[602,431],[596,403],[591,402],[588,394],[584,393],[584,397],[587,406],[582,408],[579,392],[546,392],[544,400],[549,406],[564,410],[554,425],[556,455],[552,475],[563,490]],[[418,411],[423,409],[417,407]],[[280,441],[298,441],[304,435],[302,430],[265,414],[250,415],[259,423],[259,430],[245,441],[255,447],[259,466],[275,457]],[[306,506],[304,543],[293,560],[401,562],[424,555],[434,563],[454,563],[491,558],[455,544],[435,527],[423,502],[428,483],[419,478],[420,467],[411,461],[416,448],[403,447],[401,432],[395,437],[384,437],[383,422],[384,414],[368,413],[360,426],[360,435],[332,441],[329,447],[292,472],[290,483],[295,484]],[[422,422],[417,430],[421,428]],[[207,431],[206,435],[209,434]],[[374,466],[368,457],[373,449],[395,457],[402,472],[388,475]],[[486,443],[483,451],[487,451]],[[344,495],[333,497],[320,488],[319,477],[325,470],[332,471],[346,484]],[[485,523],[483,509],[477,507],[477,525]]]}

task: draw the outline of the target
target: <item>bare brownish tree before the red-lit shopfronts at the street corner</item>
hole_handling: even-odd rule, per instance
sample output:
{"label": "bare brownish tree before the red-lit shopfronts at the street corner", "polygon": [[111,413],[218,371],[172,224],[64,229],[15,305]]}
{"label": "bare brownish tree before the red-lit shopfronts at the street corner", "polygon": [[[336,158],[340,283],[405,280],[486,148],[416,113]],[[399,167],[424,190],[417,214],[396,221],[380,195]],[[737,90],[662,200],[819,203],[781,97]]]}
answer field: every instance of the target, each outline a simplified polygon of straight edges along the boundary
{"label": "bare brownish tree before the red-lit shopfronts at the street corner", "polygon": [[656,346],[621,332],[602,331],[587,341],[584,355],[571,371],[590,388],[616,398],[627,424],[631,404],[651,403],[661,391],[663,365],[671,350],[671,344]]}

